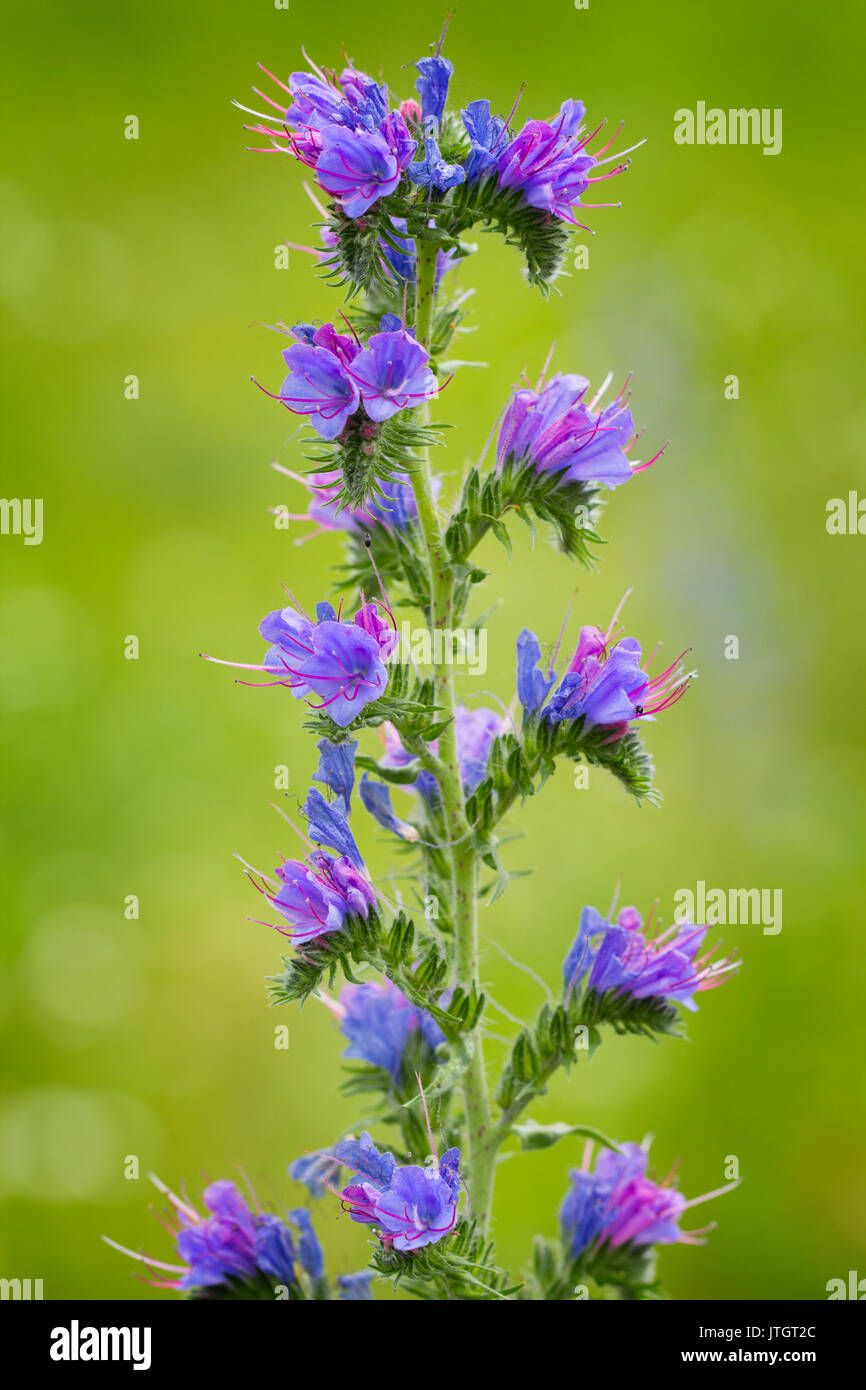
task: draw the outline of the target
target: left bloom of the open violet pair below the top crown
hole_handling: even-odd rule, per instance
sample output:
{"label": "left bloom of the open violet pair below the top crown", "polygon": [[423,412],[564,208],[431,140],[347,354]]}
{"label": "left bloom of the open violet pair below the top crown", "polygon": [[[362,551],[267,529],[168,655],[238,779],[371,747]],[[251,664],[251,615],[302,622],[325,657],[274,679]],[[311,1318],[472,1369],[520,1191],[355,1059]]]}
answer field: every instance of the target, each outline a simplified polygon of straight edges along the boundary
{"label": "left bloom of the open violet pair below the top crown", "polygon": [[357,356],[357,343],[338,334],[332,324],[318,329],[299,324],[293,332],[303,341],[282,353],[289,375],[279,388],[279,399],[293,414],[310,416],[322,439],[336,439],[360,402],[346,370]]}

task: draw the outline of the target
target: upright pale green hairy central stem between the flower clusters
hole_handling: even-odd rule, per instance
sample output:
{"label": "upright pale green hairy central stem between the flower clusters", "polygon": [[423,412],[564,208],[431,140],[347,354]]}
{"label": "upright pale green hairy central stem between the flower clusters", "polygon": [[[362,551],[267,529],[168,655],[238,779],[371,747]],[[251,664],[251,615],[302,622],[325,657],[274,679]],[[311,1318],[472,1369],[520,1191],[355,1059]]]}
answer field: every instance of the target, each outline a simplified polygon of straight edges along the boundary
{"label": "upright pale green hairy central stem between the flower clusters", "polygon": [[[435,284],[436,243],[418,239],[416,242],[416,336],[431,352]],[[420,407],[424,424],[430,423],[430,402]],[[418,520],[424,534],[430,562],[430,626],[443,631],[453,624],[455,582],[453,564],[445,545],[436,505],[434,500],[430,450],[424,449],[411,477]],[[474,838],[466,819],[463,783],[457,762],[457,739],[455,726],[455,678],[450,663],[442,662],[434,671],[435,701],[448,719],[448,727],[439,738],[438,773],[442,810],[449,841],[452,866],[453,920],[455,920],[455,972],[456,981],[464,990],[478,988],[478,858]],[[493,1163],[496,1150],[492,1138],[491,1104],[484,1066],[484,1041],[478,1024],[466,1040],[471,1054],[463,1080],[466,1108],[466,1176],[470,1193],[471,1215],[487,1232],[491,1219],[493,1197]]]}

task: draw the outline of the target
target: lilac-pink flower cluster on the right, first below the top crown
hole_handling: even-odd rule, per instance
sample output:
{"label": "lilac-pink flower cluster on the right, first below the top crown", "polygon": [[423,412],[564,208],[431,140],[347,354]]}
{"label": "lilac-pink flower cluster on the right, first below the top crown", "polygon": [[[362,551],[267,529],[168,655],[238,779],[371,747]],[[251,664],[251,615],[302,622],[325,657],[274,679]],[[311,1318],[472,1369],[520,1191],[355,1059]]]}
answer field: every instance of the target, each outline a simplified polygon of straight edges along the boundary
{"label": "lilac-pink flower cluster on the right, first below the top crown", "polygon": [[632,464],[628,450],[635,441],[631,411],[623,403],[626,388],[612,404],[595,410],[598,396],[587,402],[585,377],[557,373],[544,388],[516,391],[499,430],[496,463],[512,461],[556,474],[562,482],[599,482],[619,488],[632,473],[642,473],[662,456]]}

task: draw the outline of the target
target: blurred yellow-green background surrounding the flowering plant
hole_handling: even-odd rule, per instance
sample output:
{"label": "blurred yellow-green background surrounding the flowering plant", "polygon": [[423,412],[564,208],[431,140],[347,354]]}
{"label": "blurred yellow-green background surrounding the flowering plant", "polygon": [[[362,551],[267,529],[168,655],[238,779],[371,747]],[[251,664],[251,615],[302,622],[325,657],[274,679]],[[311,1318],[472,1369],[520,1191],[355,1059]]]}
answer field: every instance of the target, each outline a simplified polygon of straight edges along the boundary
{"label": "blurred yellow-green background surrounding the flowering plant", "polygon": [[[249,100],[257,60],[303,65],[302,44],[320,63],[345,44],[410,95],[406,64],[442,18],[345,0],[7,6],[0,491],[44,498],[44,541],[0,539],[0,1273],[42,1277],[46,1298],[164,1297],[99,1241],[171,1258],[126,1155],[190,1190],[239,1162],[260,1195],[295,1202],[286,1163],[354,1115],[325,1011],[265,1008],[281,942],[245,920],[260,905],[232,859],[295,848],[268,806],[274,767],[288,763],[303,796],[313,745],[288,695],[197,657],[259,659],[281,584],[314,603],[341,553],[335,538],[295,548],[268,514],[302,503],[270,460],[302,460],[289,417],[250,386],[281,379],[279,345],[254,324],[327,317],[335,295],[300,253],[275,268],[277,243],[313,235],[302,170],[245,154],[229,99]],[[453,488],[552,341],[560,370],[634,370],[646,452],[673,438],[609,507],[603,573],[575,574],[523,537],[510,567],[485,552],[481,606],[505,603],[488,676],[463,689],[507,702],[514,634],[553,638],[575,582],[573,631],[605,624],[634,585],[628,631],[671,655],[692,645],[701,667],[649,728],[660,810],[601,774],[575,791],[563,770],[514,817],[525,838],[510,863],[535,872],[482,930],[545,977],[580,906],[606,908],[620,874],[623,901],[657,897],[666,920],[699,878],[784,891],[780,935],[721,933],[745,967],[703,997],[692,1041],[613,1038],[537,1109],[620,1138],[655,1131],[659,1169],[680,1156],[687,1194],[719,1186],[737,1155],[742,1187],[701,1212],[719,1220],[706,1248],[662,1255],[678,1298],[820,1298],[828,1279],[866,1275],[866,541],[824,527],[828,498],[866,491],[862,38],[853,7],[802,0],[464,0],[448,38],[455,101],[507,111],[525,82],[523,118],[580,96],[591,118],[626,118],[626,143],[648,138],[562,296],[545,303],[516,254],[481,238],[461,272],[478,325],[464,356],[489,370],[449,388],[457,428],[441,466]],[[674,145],[674,110],[698,100],[781,107],[783,153]],[[128,374],[139,400],[124,399]],[[728,374],[738,400],[724,399]],[[139,660],[124,659],[129,634]],[[370,823],[361,845],[374,870],[392,865]],[[139,920],[124,917],[129,894]],[[534,1012],[537,987],[492,947],[484,973],[512,1013]],[[503,1261],[555,1232],[578,1152],[502,1165]],[[363,1262],[364,1234],[335,1204],[320,1229],[335,1272]]]}

